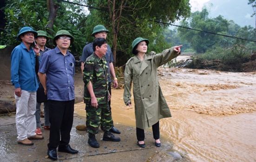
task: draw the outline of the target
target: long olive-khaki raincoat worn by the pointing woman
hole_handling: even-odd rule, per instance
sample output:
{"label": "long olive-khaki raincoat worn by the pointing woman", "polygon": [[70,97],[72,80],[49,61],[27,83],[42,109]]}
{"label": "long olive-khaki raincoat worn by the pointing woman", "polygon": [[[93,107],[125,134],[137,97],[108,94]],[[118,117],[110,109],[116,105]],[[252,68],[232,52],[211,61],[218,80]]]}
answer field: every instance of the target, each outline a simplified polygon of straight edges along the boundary
{"label": "long olive-khaki raincoat worn by the pointing woman", "polygon": [[131,57],[125,66],[125,105],[131,103],[131,82],[135,104],[136,127],[147,129],[161,118],[171,117],[170,109],[164,99],[158,82],[158,67],[177,57],[174,47],[160,54],[146,54],[141,61],[138,56]]}

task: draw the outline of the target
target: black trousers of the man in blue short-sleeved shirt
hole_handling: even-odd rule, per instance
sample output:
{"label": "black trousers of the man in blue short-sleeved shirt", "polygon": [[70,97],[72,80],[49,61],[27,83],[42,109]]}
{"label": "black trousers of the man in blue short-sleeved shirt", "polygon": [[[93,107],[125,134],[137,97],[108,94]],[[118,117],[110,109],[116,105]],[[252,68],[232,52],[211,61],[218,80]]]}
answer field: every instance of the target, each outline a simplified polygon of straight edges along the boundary
{"label": "black trousers of the man in blue short-sleeved shirt", "polygon": [[48,149],[56,149],[59,145],[67,145],[73,125],[75,100],[49,100],[49,120],[51,123]]}

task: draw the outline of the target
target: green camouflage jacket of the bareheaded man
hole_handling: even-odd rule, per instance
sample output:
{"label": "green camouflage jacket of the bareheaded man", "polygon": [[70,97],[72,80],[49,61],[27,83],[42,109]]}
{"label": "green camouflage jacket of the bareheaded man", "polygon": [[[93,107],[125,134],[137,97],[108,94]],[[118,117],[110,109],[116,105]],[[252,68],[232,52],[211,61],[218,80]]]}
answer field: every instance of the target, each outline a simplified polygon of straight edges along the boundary
{"label": "green camouflage jacket of the bareheaded man", "polygon": [[92,82],[93,92],[97,98],[98,104],[108,102],[108,66],[105,57],[101,59],[93,53],[85,61],[83,81],[84,87],[84,102],[91,103],[91,96],[88,91],[89,81]]}

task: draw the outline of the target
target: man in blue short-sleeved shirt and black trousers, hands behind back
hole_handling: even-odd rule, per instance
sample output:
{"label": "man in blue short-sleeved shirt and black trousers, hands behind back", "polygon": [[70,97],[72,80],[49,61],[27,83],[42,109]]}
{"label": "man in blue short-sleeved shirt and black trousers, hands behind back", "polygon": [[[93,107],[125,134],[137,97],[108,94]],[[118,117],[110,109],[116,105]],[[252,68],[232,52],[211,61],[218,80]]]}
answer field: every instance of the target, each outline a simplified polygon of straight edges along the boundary
{"label": "man in blue short-sleeved shirt and black trousers, hands behind back", "polygon": [[67,49],[73,42],[68,31],[58,31],[53,38],[56,48],[44,53],[39,67],[38,76],[47,94],[51,123],[47,154],[53,160],[57,159],[58,146],[59,152],[78,153],[69,145],[75,103],[75,58]]}

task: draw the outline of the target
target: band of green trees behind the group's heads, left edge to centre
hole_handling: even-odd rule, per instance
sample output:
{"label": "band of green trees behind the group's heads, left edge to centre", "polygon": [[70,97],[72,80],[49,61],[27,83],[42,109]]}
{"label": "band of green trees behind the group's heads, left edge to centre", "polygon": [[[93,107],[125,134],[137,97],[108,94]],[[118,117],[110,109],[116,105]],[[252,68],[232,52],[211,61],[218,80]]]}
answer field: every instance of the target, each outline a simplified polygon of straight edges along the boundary
{"label": "band of green trees behind the group's heads, left edge to centre", "polygon": [[[92,42],[93,27],[98,24],[105,25],[110,31],[107,37],[111,46],[116,44],[117,54],[124,54],[122,60],[131,56],[131,43],[136,37],[148,38],[151,42],[150,50],[161,52],[169,48],[170,44],[164,42],[162,28],[164,23],[174,22],[181,17],[190,15],[189,0],[72,0],[74,3],[85,4],[95,8],[88,8],[89,15],[85,15],[82,6],[53,0],[58,6],[57,17],[53,29],[46,29],[49,17],[46,0],[6,0],[5,14],[7,25],[0,35],[0,43],[18,45],[16,36],[23,26],[31,26],[34,30],[50,31],[54,34],[60,29],[69,31],[74,36],[74,44],[70,47],[73,54],[81,55],[86,43]],[[115,2],[115,4],[113,4]],[[163,6],[165,9],[163,10]],[[115,37],[117,36],[117,40]],[[115,40],[115,41],[114,41]],[[48,42],[52,45],[52,42]],[[120,57],[121,58],[121,57]],[[116,60],[120,60],[116,58]]]}

